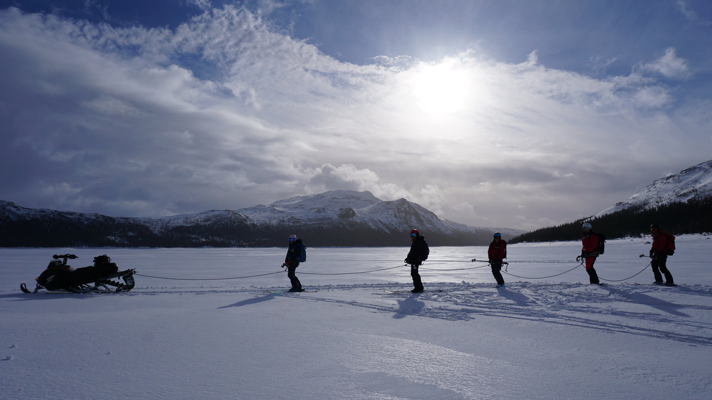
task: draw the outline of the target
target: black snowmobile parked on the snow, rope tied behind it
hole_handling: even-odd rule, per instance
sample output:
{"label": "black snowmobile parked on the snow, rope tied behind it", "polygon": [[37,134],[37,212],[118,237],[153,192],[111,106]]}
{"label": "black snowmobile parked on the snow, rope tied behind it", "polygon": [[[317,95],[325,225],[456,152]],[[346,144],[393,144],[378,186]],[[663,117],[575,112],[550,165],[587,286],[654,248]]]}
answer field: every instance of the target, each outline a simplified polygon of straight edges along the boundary
{"label": "black snowmobile parked on the snow, rope tied behind it", "polygon": [[[74,254],[53,255],[47,269],[35,279],[35,290],[29,291],[24,283],[20,284],[20,289],[25,293],[37,293],[40,289],[70,293],[127,292],[135,285],[133,274],[136,270],[119,271],[119,267],[112,263],[106,254],[94,257],[93,266],[73,269],[67,265],[68,259],[78,258]],[[124,282],[112,279],[122,279]],[[114,286],[115,289],[109,286]]]}

